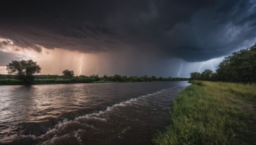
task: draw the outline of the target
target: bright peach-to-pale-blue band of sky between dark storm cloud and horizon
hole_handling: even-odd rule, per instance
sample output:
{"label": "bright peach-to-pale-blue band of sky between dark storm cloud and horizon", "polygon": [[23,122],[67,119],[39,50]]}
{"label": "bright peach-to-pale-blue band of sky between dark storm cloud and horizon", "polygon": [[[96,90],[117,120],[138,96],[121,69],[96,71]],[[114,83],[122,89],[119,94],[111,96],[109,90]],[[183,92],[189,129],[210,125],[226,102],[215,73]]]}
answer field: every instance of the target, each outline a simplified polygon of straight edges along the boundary
{"label": "bright peach-to-pale-blue band of sky between dark storm cloud and horizon", "polygon": [[[40,74],[58,74],[61,75],[61,72],[65,69],[73,70],[76,76],[81,74],[90,76],[92,74],[99,74],[99,76],[104,76],[104,74],[108,76],[113,76],[115,74],[121,74],[126,76],[143,76],[144,74],[148,74],[148,76],[175,76],[173,74],[176,73],[177,77],[189,78],[190,72],[200,72],[205,69],[214,70],[215,67],[221,62],[224,57],[220,57],[218,59],[206,60],[204,62],[184,62],[181,59],[171,59],[171,68],[170,71],[164,72],[165,75],[154,74],[150,72],[148,73],[147,69],[151,68],[148,66],[150,62],[147,62],[145,59],[144,64],[141,62],[133,61],[131,62],[131,57],[127,55],[127,52],[102,52],[102,53],[80,53],[76,51],[63,50],[59,48],[55,49],[47,49],[42,47],[42,52],[36,52],[32,49],[24,49],[18,46],[1,46],[0,51],[9,53],[13,55],[16,59],[14,60],[28,60],[32,59],[37,62],[39,66],[42,67],[42,72]],[[113,57],[118,56],[118,57]],[[137,57],[143,58],[143,55],[140,54]],[[10,60],[11,62],[11,60]],[[84,66],[84,62],[86,62],[86,66]],[[154,62],[154,61],[153,61]],[[136,67],[131,64],[138,63],[144,67]],[[180,66],[175,64],[181,63]],[[0,67],[0,74],[7,74],[6,64],[2,64]],[[128,66],[127,66],[128,65]],[[145,66],[147,65],[147,66]],[[160,64],[156,64],[158,66]],[[131,71],[133,69],[142,69],[143,72],[131,73],[127,71]],[[195,70],[198,68],[197,70]],[[152,69],[152,68],[151,68]],[[127,71],[125,71],[127,70]],[[157,70],[157,69],[156,69]],[[177,73],[177,70],[179,72]],[[163,70],[164,71],[164,70]],[[175,72],[176,71],[176,72]],[[215,71],[215,70],[214,70]],[[157,72],[157,71],[156,71]],[[166,75],[167,74],[167,75]]]}

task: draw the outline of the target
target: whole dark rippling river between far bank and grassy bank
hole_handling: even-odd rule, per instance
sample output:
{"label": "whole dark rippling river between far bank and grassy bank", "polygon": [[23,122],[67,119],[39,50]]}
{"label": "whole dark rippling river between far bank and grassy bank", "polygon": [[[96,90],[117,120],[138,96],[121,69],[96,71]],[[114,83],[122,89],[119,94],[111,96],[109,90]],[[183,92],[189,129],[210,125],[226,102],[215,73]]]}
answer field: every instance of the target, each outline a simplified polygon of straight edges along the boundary
{"label": "whole dark rippling river between far bank and grassy bank", "polygon": [[0,142],[150,144],[186,81],[0,86]]}

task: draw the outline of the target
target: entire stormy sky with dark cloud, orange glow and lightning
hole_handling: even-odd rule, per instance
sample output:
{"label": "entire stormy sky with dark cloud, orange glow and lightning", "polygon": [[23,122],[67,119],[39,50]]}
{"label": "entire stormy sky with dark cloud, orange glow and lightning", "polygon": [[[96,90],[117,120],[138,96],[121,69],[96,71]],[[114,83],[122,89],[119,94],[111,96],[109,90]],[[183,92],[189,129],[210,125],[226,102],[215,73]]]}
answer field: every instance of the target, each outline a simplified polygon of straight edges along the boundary
{"label": "entire stormy sky with dark cloud, orange glow and lightning", "polygon": [[33,59],[42,74],[189,77],[256,42],[253,0],[4,1],[0,74]]}

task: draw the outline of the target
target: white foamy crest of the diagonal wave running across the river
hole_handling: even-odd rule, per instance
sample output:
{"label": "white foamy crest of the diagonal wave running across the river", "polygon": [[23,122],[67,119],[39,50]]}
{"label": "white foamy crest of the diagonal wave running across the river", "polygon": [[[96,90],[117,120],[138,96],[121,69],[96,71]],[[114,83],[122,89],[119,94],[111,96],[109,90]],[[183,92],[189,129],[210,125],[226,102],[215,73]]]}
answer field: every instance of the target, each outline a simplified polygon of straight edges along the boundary
{"label": "white foamy crest of the diagonal wave running across the river", "polygon": [[[148,106],[148,105],[150,105],[149,101],[152,102],[151,99],[153,99],[153,98],[155,99],[157,97],[157,94],[163,93],[163,95],[167,95],[168,92],[169,92],[168,89],[163,89],[163,90],[160,90],[155,93],[142,95],[138,98],[132,98],[132,99],[126,100],[125,102],[120,102],[118,104],[114,104],[111,107],[108,106],[105,111],[99,111],[99,113],[92,113],[92,114],[86,114],[84,116],[78,116],[74,120],[64,119],[63,121],[60,121],[57,125],[55,125],[54,128],[52,128],[51,130],[48,130],[45,134],[42,134],[38,137],[33,136],[33,138],[37,138],[39,140],[42,139],[43,140],[42,144],[44,144],[44,143],[47,144],[49,142],[54,141],[54,139],[55,140],[59,139],[59,138],[61,139],[61,137],[64,137],[65,135],[70,134],[70,132],[69,132],[70,128],[71,128],[70,131],[74,132],[75,130],[73,130],[74,128],[72,129],[72,127],[71,127],[72,125],[76,125],[76,127],[90,126],[90,128],[94,128],[92,125],[86,124],[86,120],[98,120],[98,121],[107,122],[109,120],[109,118],[106,117],[106,115],[104,115],[106,113],[109,113],[111,111],[119,111],[120,113],[122,113],[122,111],[120,111],[121,108],[126,107],[126,106],[132,106],[132,105],[133,106]],[[140,120],[136,120],[136,121],[140,121]],[[131,127],[124,128],[124,130],[122,130],[122,133],[126,132],[130,128]],[[67,130],[67,132],[66,132],[66,130]],[[79,142],[81,142],[81,137],[79,136],[78,132],[81,132],[81,130],[83,130],[83,128],[79,128],[75,131],[76,132],[75,137],[76,137],[77,141],[79,141]],[[61,132],[65,132],[65,135],[60,135]],[[58,136],[58,135],[60,135],[60,136]]]}

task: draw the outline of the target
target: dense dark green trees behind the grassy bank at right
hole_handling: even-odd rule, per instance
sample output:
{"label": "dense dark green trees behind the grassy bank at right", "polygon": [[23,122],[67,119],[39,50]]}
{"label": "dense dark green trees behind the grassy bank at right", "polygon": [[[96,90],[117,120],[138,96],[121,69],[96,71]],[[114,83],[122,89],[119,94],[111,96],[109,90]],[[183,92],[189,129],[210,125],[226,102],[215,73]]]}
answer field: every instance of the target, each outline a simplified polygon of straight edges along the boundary
{"label": "dense dark green trees behind the grassy bank at right", "polygon": [[256,44],[232,53],[219,64],[216,72],[205,69],[202,74],[191,72],[190,79],[207,81],[256,82]]}

